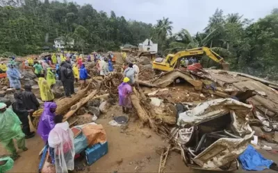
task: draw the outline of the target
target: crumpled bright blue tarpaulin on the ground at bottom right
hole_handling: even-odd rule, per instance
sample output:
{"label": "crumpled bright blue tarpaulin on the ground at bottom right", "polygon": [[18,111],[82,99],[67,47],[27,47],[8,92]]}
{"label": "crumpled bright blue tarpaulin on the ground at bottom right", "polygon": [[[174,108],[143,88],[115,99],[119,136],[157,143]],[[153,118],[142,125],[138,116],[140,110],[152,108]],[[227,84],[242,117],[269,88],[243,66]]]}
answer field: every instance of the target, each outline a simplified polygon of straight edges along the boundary
{"label": "crumpled bright blue tarpaulin on the ground at bottom right", "polygon": [[269,169],[273,163],[273,161],[264,158],[252,145],[248,145],[247,149],[245,149],[238,159],[243,165],[244,170],[262,171]]}

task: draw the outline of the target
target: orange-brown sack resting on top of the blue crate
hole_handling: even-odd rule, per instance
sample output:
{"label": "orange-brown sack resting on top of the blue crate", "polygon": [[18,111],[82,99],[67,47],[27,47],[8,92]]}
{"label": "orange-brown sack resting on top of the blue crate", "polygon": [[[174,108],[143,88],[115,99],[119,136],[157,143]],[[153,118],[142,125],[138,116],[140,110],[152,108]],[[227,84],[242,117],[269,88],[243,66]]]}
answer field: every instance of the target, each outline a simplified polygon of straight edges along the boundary
{"label": "orange-brown sack resting on top of the blue crate", "polygon": [[106,142],[106,132],[102,125],[85,125],[82,128],[82,133],[88,140],[88,147]]}

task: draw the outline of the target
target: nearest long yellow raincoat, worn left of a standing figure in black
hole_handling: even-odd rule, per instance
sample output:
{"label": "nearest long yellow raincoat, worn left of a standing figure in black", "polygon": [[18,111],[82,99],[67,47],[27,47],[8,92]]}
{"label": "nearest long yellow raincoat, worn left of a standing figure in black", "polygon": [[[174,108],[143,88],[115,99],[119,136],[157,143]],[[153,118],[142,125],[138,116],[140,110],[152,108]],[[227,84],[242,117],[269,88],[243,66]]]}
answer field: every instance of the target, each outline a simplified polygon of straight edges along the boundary
{"label": "nearest long yellow raincoat, worn left of a standing figure in black", "polygon": [[42,101],[51,101],[54,100],[54,95],[50,89],[49,84],[47,83],[47,80],[44,78],[39,78],[39,87],[40,87],[40,98],[42,98]]}

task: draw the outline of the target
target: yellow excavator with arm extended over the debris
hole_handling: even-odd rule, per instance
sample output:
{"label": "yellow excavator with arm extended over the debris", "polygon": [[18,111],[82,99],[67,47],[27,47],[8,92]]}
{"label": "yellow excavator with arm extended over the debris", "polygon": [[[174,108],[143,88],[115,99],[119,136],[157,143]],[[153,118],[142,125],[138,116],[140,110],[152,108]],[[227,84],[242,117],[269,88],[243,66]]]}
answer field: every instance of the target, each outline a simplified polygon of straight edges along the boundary
{"label": "yellow excavator with arm extended over the debris", "polygon": [[181,64],[181,57],[193,57],[195,55],[206,55],[210,57],[211,60],[220,63],[223,70],[229,71],[229,64],[227,62],[224,62],[224,59],[220,57],[220,55],[213,52],[210,48],[207,47],[179,51],[176,54],[168,54],[165,58],[158,57],[152,63],[152,68],[156,71],[172,71],[174,69],[179,69]]}

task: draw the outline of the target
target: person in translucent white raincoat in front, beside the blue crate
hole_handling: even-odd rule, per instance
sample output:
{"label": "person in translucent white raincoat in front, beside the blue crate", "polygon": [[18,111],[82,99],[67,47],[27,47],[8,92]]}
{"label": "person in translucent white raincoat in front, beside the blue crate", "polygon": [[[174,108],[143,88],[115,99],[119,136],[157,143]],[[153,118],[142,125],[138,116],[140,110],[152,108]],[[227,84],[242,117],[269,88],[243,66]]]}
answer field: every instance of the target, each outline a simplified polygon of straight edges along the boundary
{"label": "person in translucent white raincoat in front, beside the blue crate", "polygon": [[54,148],[51,158],[54,157],[56,172],[66,173],[74,170],[74,134],[69,122],[63,122],[63,116],[55,116],[54,122],[56,125],[48,137],[50,149]]}

